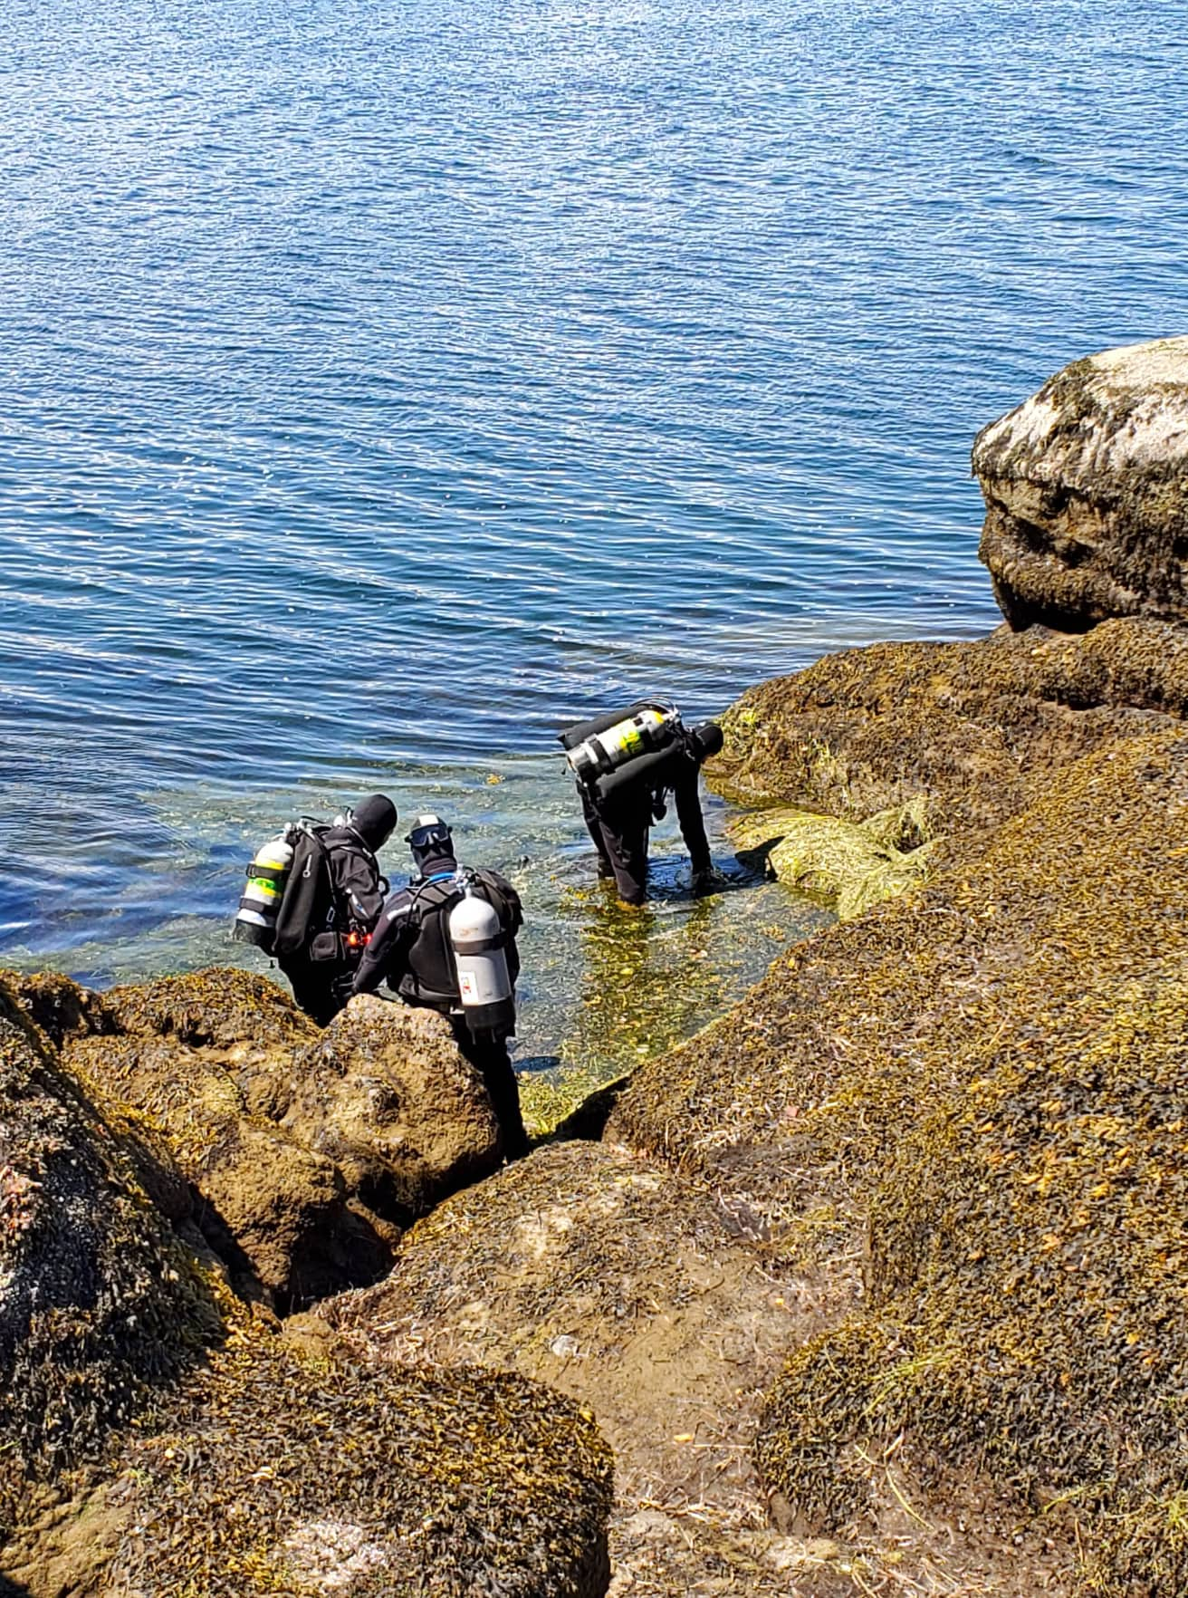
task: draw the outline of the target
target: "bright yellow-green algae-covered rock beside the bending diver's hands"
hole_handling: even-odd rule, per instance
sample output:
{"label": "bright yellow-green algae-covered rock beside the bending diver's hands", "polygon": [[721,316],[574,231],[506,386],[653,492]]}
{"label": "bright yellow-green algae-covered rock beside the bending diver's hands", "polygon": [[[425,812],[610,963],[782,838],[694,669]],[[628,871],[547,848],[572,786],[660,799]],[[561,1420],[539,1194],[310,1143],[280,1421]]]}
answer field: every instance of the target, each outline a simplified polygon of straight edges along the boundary
{"label": "bright yellow-green algae-covered rock beside the bending diver's hands", "polygon": [[929,826],[925,801],[913,799],[865,821],[774,807],[739,817],[730,831],[742,857],[762,855],[779,882],[851,920],[926,880]]}

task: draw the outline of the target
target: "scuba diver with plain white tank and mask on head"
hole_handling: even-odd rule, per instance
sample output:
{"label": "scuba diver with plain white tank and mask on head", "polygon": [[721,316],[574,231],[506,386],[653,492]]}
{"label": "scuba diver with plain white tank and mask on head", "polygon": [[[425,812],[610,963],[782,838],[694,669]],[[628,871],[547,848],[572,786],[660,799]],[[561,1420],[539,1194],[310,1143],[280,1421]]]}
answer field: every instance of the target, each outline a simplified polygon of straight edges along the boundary
{"label": "scuba diver with plain white tank and mask on head", "polygon": [[354,992],[386,981],[410,1005],[450,1018],[453,1037],[490,1093],[503,1152],[529,1152],[508,1039],[516,1031],[519,895],[498,871],[460,866],[453,834],[420,815],[406,842],[417,876],[388,900],[354,976]]}

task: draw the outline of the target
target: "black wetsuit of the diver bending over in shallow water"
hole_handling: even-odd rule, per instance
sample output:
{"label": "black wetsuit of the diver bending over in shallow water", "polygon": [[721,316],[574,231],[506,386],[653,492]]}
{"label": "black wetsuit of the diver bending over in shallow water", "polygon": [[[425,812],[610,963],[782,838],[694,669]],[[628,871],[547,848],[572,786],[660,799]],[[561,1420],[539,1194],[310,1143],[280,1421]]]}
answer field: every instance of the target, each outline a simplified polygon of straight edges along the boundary
{"label": "black wetsuit of the diver bending over in shallow water", "polygon": [[647,898],[648,829],[664,815],[669,794],[693,876],[699,877],[711,869],[706,821],[698,797],[699,770],[701,762],[688,740],[682,740],[659,775],[653,773],[651,780],[623,788],[607,799],[594,797],[578,783],[581,813],[599,852],[599,876],[615,877],[620,898],[628,904],[642,904]]}

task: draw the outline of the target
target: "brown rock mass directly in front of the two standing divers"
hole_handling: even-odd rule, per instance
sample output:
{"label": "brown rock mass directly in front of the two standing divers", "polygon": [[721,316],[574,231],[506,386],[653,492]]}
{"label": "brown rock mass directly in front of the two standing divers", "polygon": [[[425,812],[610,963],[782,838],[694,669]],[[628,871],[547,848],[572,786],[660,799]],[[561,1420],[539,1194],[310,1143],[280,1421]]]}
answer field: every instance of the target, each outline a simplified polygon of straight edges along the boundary
{"label": "brown rock mass directly in front of the two standing divers", "polygon": [[110,1112],[172,1151],[236,1291],[281,1310],[375,1282],[410,1219],[498,1165],[485,1087],[430,1012],[361,999],[323,1032],[233,968],[14,991]]}

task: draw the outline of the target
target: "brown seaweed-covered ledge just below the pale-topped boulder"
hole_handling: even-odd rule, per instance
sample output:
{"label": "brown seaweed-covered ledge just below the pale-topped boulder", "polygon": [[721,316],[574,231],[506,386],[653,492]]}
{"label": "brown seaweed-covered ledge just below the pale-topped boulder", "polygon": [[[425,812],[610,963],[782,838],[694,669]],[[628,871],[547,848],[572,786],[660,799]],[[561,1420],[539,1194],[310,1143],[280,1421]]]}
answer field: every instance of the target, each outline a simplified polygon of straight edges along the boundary
{"label": "brown seaweed-covered ledge just below the pale-topped boulder", "polygon": [[715,786],[851,821],[917,810],[944,837],[1003,821],[1051,775],[1188,706],[1188,631],[1001,628],[968,644],[873,644],[750,689],[723,718]]}

